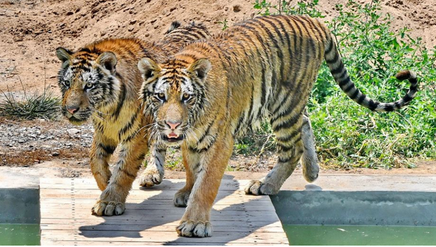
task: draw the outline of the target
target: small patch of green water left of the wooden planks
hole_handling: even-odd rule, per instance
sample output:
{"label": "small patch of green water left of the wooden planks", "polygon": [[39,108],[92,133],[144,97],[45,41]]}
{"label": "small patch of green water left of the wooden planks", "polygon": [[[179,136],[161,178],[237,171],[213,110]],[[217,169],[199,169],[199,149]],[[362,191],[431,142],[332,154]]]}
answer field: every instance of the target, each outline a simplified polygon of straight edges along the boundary
{"label": "small patch of green water left of the wooden planks", "polygon": [[39,224],[0,224],[0,245],[39,245]]}

